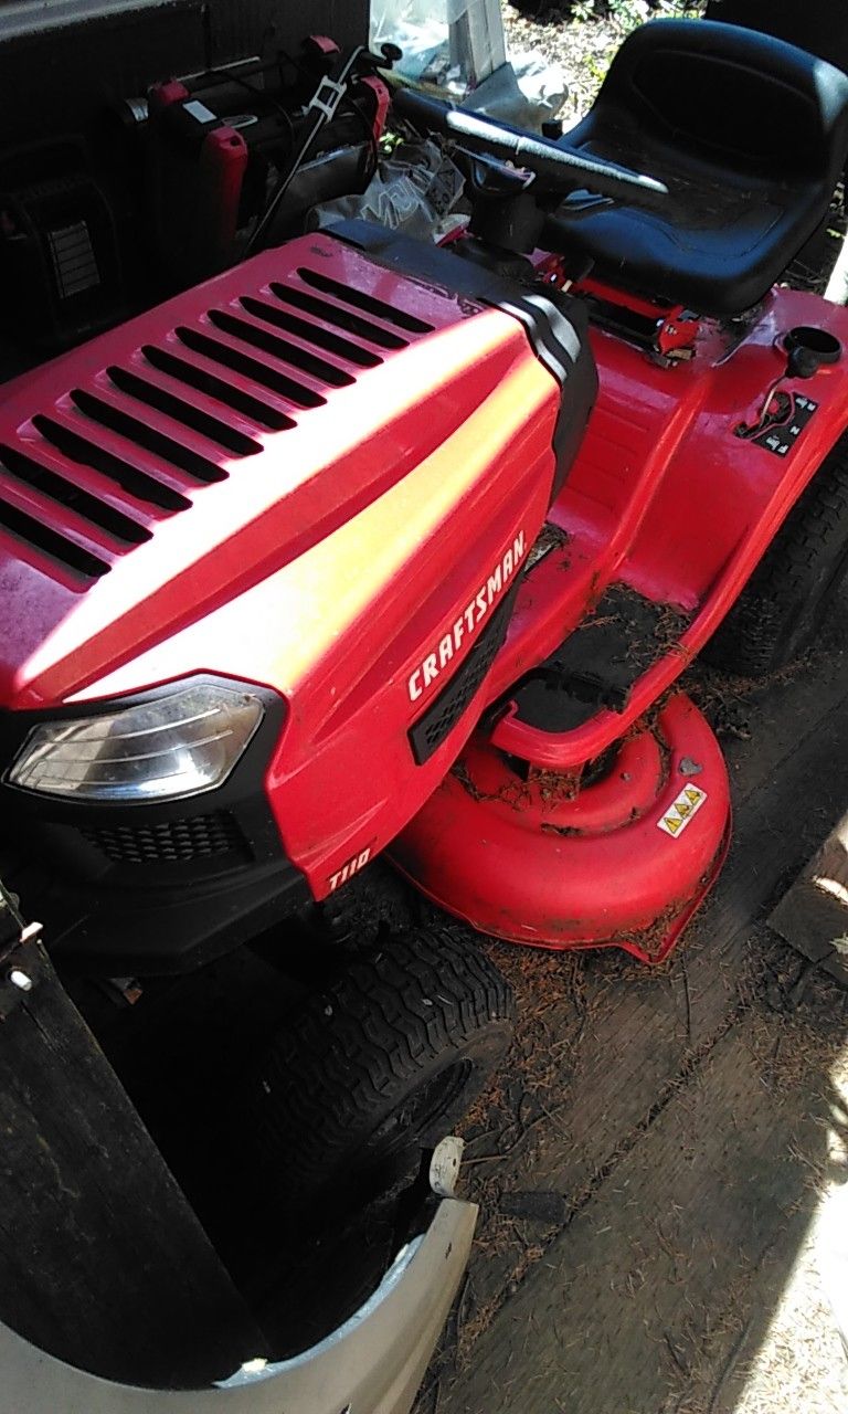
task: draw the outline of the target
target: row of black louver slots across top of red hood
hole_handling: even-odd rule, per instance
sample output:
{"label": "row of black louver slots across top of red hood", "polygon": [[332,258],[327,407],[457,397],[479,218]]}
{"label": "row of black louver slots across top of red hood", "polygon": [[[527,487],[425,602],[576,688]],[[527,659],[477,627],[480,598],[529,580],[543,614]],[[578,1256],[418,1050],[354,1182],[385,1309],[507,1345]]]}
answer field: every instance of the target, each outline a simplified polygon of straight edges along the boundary
{"label": "row of black louver slots across top of red hood", "polygon": [[[247,270],[233,271],[230,291]],[[228,291],[226,304],[165,325],[155,342],[151,318],[146,342],[127,349],[117,346],[122,331],[103,335],[99,372],[0,433],[0,533],[79,588],[150,540],[157,520],[187,510],[192,493],[260,454],[269,437],[432,331],[302,266]]]}

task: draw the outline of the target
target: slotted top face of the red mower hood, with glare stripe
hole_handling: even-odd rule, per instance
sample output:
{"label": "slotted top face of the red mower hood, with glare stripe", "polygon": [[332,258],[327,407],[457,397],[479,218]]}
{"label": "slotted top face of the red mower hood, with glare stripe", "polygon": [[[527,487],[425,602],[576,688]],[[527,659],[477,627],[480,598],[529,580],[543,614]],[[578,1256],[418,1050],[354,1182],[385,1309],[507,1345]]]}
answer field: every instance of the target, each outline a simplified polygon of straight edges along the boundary
{"label": "slotted top face of the red mower hood, with glare stripe", "polygon": [[66,700],[383,495],[495,386],[502,318],[305,236],[7,385],[0,704]]}

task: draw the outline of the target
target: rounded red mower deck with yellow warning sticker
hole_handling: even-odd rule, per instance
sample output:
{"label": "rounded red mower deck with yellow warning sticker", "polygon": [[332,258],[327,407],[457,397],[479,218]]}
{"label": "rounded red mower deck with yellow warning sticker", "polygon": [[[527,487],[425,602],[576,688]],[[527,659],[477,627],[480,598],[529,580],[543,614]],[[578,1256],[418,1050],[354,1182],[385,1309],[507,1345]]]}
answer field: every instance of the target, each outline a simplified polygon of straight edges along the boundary
{"label": "rounded red mower deck with yellow warning sticker", "polygon": [[473,928],[536,947],[619,946],[667,957],[729,839],[724,756],[673,697],[592,781],[516,769],[475,740],[391,848],[428,898]]}

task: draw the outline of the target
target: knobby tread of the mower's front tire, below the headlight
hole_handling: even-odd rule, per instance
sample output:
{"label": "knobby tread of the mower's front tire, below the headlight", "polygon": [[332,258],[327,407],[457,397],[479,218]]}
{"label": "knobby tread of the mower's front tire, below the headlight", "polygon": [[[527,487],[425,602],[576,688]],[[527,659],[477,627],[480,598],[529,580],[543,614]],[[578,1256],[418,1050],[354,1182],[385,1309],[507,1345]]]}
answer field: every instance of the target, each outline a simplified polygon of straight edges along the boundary
{"label": "knobby tread of the mower's front tire, below the headlight", "polygon": [[259,1085],[259,1140],[285,1195],[319,1191],[351,1135],[445,1052],[500,1029],[514,1001],[497,969],[459,930],[428,928],[358,957],[277,1034]]}

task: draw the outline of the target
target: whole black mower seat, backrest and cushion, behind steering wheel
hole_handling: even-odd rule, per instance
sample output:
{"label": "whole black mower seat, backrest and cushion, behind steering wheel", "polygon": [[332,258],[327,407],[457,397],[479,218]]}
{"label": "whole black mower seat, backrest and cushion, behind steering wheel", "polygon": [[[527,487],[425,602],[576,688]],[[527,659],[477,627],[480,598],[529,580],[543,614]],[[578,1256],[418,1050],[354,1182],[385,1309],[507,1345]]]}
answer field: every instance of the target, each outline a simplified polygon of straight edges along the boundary
{"label": "whole black mower seat, backrest and cushion, behind steering wheel", "polygon": [[827,215],[848,151],[848,76],[752,30],[653,20],[625,40],[560,146],[670,189],[661,209],[574,222],[570,255],[653,298],[739,314]]}

